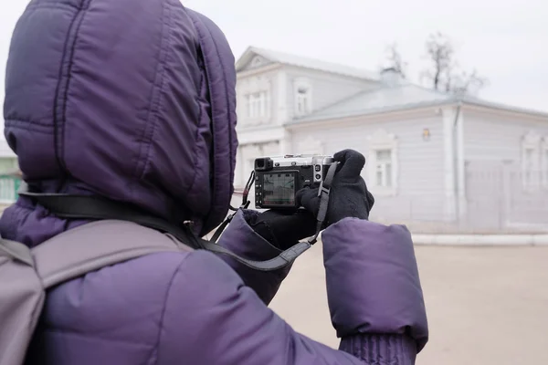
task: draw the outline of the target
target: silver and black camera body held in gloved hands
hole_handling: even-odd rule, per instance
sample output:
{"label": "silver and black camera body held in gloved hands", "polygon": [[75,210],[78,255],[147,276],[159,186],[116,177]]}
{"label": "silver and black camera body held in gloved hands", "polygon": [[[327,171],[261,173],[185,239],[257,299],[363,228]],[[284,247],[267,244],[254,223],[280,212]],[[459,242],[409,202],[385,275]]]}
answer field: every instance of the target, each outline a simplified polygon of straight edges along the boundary
{"label": "silver and black camera body held in gloved hands", "polygon": [[333,162],[332,156],[285,155],[255,160],[255,207],[296,209],[295,194],[318,187]]}

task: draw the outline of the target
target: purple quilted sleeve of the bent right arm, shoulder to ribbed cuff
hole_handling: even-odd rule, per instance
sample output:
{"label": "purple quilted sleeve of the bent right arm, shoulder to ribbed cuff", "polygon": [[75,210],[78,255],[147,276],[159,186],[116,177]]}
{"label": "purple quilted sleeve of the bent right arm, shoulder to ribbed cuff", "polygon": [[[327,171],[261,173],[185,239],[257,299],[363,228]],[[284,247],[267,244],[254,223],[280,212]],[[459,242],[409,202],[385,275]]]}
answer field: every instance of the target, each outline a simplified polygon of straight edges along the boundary
{"label": "purple quilted sleeve of the bent right arm, shoulder to ribbed cuff", "polygon": [[346,219],[323,245],[340,349],[294,331],[225,263],[196,251],[172,280],[158,364],[413,364],[427,319],[406,229]]}

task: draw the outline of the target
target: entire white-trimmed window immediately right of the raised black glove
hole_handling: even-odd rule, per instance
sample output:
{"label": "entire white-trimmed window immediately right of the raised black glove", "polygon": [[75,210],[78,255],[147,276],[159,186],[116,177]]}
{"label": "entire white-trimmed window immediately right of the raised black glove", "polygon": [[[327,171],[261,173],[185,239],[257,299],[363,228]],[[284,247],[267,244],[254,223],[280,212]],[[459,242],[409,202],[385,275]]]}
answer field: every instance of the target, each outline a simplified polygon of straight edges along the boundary
{"label": "entire white-trimmed window immediately right of the raised black glove", "polygon": [[395,195],[397,193],[397,139],[394,134],[377,130],[367,139],[369,179],[373,193]]}

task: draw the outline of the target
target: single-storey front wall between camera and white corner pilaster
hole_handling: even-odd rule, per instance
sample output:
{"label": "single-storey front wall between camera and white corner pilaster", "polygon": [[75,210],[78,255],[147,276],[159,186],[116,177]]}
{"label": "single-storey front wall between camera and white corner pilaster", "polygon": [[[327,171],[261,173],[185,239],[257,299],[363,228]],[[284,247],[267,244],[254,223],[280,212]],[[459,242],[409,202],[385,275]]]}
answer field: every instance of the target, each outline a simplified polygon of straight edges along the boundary
{"label": "single-storey front wall between camera and white corner pilaster", "polygon": [[[445,137],[442,116],[435,109],[293,127],[292,152],[332,154],[353,149],[371,160],[370,138],[379,130],[393,134],[397,141],[397,181],[395,193],[376,189],[374,170],[366,162],[364,178],[377,200],[372,216],[390,222],[438,221],[445,214]],[[429,138],[424,137],[425,130]]]}

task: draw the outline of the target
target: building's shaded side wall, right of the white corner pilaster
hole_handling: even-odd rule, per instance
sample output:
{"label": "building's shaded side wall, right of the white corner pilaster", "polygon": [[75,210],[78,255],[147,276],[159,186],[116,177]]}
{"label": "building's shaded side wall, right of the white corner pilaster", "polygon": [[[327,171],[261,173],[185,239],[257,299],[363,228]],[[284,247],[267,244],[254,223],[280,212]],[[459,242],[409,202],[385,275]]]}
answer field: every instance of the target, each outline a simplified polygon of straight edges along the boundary
{"label": "building's shaded side wall, right of the white corner pilaster", "polygon": [[548,226],[548,120],[472,107],[463,117],[465,222],[499,231]]}

